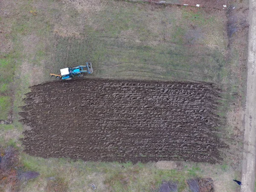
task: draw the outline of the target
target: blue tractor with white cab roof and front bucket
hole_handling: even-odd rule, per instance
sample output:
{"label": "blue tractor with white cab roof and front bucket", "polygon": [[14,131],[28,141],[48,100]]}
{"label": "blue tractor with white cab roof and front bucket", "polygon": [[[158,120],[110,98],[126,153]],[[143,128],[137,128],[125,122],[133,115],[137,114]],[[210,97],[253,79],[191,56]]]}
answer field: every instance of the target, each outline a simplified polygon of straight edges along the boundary
{"label": "blue tractor with white cab roof and front bucket", "polygon": [[56,78],[61,78],[64,80],[68,80],[68,79],[72,79],[74,76],[83,76],[84,73],[93,73],[93,67],[91,63],[86,63],[86,65],[80,65],[78,67],[74,67],[74,68],[64,68],[61,69],[61,73],[56,75],[53,73],[50,73],[51,76],[55,76]]}

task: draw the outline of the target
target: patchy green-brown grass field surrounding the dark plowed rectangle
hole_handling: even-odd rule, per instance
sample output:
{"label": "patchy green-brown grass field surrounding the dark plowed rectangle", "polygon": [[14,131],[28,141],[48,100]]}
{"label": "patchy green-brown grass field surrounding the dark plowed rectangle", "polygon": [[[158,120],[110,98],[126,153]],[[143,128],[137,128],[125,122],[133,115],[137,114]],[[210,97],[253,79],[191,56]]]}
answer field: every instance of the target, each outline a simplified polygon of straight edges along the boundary
{"label": "patchy green-brown grass field surrounding the dark plowed rectangle", "polygon": [[[224,117],[237,99],[233,93],[242,92],[239,49],[232,49],[228,57],[227,17],[222,10],[112,0],[3,0],[2,5],[0,119],[13,116],[12,125],[0,125],[2,145],[22,150],[18,139],[24,127],[18,112],[29,86],[53,81],[49,73],[87,61],[93,64],[90,77],[214,82],[223,90],[219,113]],[[232,128],[220,128],[220,137],[230,142]],[[185,180],[196,176],[212,177],[216,191],[233,192],[237,188],[227,180],[239,177],[239,169],[228,159],[223,165],[181,162],[173,169],[23,153],[20,160],[25,168],[41,173],[23,184],[28,192],[50,189],[46,177],[56,177],[55,186],[67,191],[90,191],[91,183],[98,191],[150,191],[162,180],[177,181],[182,191],[187,189]]]}

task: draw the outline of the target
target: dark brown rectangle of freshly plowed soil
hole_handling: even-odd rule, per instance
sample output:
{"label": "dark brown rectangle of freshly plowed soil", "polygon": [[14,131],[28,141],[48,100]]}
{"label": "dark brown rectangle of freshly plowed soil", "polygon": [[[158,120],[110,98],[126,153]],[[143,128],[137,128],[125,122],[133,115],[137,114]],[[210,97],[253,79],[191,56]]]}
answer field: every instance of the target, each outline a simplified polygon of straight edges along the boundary
{"label": "dark brown rectangle of freshly plowed soil", "polygon": [[31,87],[20,115],[31,155],[215,163],[218,92],[206,83],[79,79]]}

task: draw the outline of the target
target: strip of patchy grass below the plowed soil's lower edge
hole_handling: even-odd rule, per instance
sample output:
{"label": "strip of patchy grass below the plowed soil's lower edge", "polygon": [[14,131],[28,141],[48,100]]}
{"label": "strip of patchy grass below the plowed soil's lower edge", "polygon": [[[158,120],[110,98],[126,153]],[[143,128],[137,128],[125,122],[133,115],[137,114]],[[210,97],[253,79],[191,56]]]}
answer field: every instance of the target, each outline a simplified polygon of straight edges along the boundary
{"label": "strip of patchy grass below the plowed soil's lower edge", "polygon": [[[204,163],[184,163],[183,169],[158,169],[153,163],[104,163],[83,162],[70,159],[43,159],[22,154],[24,169],[40,172],[36,181],[29,181],[24,191],[36,191],[37,183],[46,186],[46,177],[66,178],[69,191],[89,191],[90,183],[96,184],[98,191],[151,191],[158,189],[163,180],[172,180],[178,184],[179,192],[188,190],[186,180],[195,177],[212,177],[219,183],[225,177],[227,184],[239,174],[228,165],[210,165]],[[228,177],[227,175],[228,174]],[[227,191],[233,192],[235,185]]]}

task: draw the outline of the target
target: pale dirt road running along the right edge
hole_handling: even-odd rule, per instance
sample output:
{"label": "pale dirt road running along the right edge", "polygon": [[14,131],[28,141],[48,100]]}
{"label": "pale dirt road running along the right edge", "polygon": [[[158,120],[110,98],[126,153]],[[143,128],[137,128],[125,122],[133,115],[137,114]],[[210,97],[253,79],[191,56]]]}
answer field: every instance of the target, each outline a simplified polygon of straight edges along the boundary
{"label": "pale dirt road running along the right edge", "polygon": [[249,0],[250,29],[247,71],[247,98],[245,111],[244,160],[241,192],[253,192],[256,155],[256,0]]}

